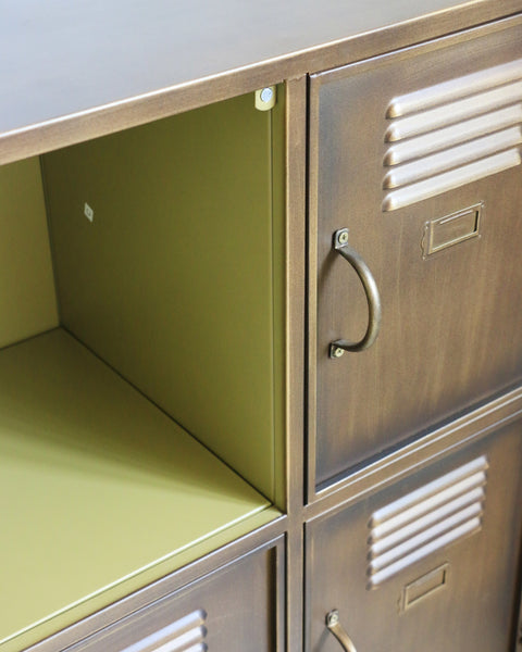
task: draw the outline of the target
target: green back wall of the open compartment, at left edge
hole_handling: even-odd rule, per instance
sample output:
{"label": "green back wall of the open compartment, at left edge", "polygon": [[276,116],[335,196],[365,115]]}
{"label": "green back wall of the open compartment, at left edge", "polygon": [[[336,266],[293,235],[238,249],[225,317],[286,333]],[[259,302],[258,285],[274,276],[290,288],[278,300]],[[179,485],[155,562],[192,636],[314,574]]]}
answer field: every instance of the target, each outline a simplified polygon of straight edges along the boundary
{"label": "green back wall of the open compartment, at left edge", "polygon": [[38,159],[0,167],[0,347],[58,326]]}

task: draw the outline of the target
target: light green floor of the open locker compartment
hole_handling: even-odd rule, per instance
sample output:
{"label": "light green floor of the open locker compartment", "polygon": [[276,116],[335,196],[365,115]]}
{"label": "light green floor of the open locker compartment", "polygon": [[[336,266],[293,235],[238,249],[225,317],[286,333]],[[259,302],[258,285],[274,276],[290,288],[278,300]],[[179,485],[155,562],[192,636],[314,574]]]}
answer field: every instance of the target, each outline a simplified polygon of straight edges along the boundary
{"label": "light green floor of the open locker compartment", "polygon": [[2,652],[274,517],[62,329],[0,352],[0,482]]}

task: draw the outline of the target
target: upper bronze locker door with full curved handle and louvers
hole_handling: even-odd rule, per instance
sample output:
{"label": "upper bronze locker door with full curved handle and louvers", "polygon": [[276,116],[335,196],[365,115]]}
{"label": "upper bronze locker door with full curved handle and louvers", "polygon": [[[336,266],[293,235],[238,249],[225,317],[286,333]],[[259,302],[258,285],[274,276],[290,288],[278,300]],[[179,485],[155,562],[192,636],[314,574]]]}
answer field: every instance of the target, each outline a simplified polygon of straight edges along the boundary
{"label": "upper bronze locker door with full curved handle and louvers", "polygon": [[521,23],[312,76],[312,488],[522,376]]}

